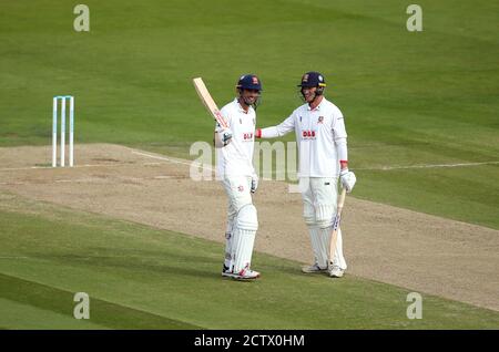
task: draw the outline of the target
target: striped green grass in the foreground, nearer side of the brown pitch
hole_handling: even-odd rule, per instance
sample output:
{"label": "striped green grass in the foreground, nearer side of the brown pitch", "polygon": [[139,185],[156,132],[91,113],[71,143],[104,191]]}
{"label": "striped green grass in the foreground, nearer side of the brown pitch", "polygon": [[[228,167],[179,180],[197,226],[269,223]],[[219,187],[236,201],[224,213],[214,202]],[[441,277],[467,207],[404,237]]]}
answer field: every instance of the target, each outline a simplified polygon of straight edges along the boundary
{"label": "striped green grass in the foreground, nearer side of the brown pitch", "polygon": [[[221,244],[54,206],[0,209],[3,329],[498,329],[499,313],[256,253],[255,282],[222,278]],[[42,209],[42,210],[41,210]],[[75,320],[75,292],[90,319]]]}

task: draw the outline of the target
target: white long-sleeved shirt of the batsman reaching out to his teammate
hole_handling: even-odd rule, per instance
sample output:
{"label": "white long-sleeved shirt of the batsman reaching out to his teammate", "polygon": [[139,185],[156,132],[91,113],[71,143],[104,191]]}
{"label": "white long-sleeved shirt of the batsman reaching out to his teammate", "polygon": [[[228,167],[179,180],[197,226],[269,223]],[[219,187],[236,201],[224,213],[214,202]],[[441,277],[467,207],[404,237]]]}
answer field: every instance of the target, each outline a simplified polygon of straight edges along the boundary
{"label": "white long-sleeved shirt of the batsman reaching out to his teammate", "polygon": [[339,174],[338,146],[344,145],[346,159],[346,128],[339,108],[323,96],[320,104],[310,110],[308,104],[296,108],[277,126],[262,128],[262,138],[283,136],[295,131],[298,145],[298,177],[337,177]]}

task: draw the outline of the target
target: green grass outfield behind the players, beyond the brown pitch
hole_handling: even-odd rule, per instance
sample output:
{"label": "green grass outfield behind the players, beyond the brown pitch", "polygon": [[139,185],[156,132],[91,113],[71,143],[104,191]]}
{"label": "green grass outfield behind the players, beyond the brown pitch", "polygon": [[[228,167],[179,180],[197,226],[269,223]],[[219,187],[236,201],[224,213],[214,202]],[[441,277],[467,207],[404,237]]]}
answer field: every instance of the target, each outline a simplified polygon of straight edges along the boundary
{"label": "green grass outfield behind the players, beyond the brown pitch", "polygon": [[73,94],[77,144],[189,157],[212,138],[193,76],[222,105],[240,74],[261,75],[266,126],[318,70],[347,118],[355,197],[499,229],[498,164],[371,169],[499,162],[497,2],[418,1],[419,33],[406,30],[409,1],[85,3],[79,33],[74,1],[0,2],[1,146],[50,144],[51,99]]}

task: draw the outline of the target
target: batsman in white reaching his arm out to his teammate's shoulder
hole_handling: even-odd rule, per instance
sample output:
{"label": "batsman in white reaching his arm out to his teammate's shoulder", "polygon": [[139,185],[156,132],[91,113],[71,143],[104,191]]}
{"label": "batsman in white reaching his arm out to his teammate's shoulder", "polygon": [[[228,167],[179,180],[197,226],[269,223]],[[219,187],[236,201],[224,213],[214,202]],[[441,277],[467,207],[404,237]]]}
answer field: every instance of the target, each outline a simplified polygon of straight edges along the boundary
{"label": "batsman in white reaching his arm out to his teammate's shoulder", "polygon": [[349,193],[356,177],[348,170],[347,134],[339,108],[323,95],[324,76],[307,72],[298,85],[305,104],[277,126],[256,130],[257,138],[274,138],[295,131],[298,142],[299,188],[304,219],[310,235],[315,262],[302,268],[306,273],[329,272],[343,277],[347,263],[343,256],[342,230],[338,229],[334,258],[329,257],[332,226],[336,214],[337,182]]}

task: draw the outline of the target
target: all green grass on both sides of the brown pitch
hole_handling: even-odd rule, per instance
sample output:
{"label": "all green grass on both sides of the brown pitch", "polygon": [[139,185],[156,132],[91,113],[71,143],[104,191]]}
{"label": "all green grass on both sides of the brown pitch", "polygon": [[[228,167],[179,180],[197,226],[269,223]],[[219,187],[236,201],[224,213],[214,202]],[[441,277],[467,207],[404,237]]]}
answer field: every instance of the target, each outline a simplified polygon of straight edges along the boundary
{"label": "all green grass on both sides of the brown pitch", "polygon": [[[77,159],[94,142],[190,157],[213,127],[192,77],[222,105],[257,73],[267,126],[317,70],[346,116],[355,197],[499,229],[499,164],[379,169],[499,162],[497,2],[418,1],[420,33],[410,1],[88,0],[89,33],[73,30],[77,3],[0,1],[0,146],[49,145],[52,96],[73,94]],[[430,296],[408,320],[405,289],[261,253],[262,280],[232,282],[220,244],[44,206],[0,210],[0,328],[499,328],[497,312]],[[78,291],[90,321],[72,318]]]}

